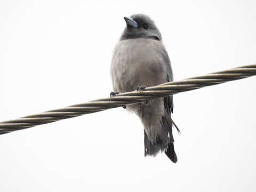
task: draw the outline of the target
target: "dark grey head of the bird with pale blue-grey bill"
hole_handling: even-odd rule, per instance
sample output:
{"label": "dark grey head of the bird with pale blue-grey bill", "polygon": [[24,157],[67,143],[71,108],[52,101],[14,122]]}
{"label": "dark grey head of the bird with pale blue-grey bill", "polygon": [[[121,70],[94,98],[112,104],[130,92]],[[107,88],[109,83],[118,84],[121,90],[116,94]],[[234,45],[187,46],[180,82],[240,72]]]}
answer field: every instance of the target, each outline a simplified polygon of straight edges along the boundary
{"label": "dark grey head of the bird with pale blue-grey bill", "polygon": [[132,38],[151,38],[157,41],[162,36],[153,20],[145,14],[133,14],[131,17],[124,17],[126,28],[121,36],[121,41]]}

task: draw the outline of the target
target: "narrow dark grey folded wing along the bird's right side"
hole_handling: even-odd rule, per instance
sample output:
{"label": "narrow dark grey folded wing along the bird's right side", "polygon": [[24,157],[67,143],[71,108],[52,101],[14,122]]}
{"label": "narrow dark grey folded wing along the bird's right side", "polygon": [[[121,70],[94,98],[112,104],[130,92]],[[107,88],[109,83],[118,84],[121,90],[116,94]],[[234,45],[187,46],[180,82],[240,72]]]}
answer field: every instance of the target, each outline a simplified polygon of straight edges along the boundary
{"label": "narrow dark grey folded wing along the bird's right side", "polygon": [[[164,59],[165,65],[167,67],[166,82],[171,82],[171,81],[173,81],[171,61],[169,59],[168,53],[165,50],[164,50],[164,53],[162,54],[162,57]],[[164,108],[169,115],[171,115],[171,113],[173,113],[173,97],[172,97],[172,95],[168,96],[168,97],[164,97]]]}

